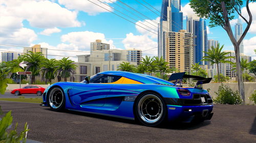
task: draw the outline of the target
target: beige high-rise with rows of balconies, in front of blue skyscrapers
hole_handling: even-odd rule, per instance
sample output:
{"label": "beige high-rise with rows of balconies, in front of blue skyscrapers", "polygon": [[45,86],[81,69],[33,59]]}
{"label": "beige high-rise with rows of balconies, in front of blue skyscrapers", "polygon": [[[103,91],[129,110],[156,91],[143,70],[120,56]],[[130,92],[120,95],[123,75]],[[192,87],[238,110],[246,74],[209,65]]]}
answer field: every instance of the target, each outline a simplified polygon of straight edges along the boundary
{"label": "beige high-rise with rows of balconies, in front of blue skyscrapers", "polygon": [[194,61],[194,48],[189,50],[190,44],[193,45],[192,36],[193,34],[186,33],[185,30],[180,30],[180,32],[168,32],[165,61],[169,63],[170,68],[176,68],[180,70],[180,72],[189,71],[189,63],[193,64]]}

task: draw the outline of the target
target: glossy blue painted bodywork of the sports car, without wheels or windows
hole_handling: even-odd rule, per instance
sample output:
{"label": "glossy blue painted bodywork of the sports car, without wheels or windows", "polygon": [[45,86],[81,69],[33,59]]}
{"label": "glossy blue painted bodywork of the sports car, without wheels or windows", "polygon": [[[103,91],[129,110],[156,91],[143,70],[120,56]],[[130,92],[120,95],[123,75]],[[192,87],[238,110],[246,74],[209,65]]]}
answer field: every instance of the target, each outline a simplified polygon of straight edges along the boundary
{"label": "glossy blue painted bodywork of the sports car, without wheels or windows", "polygon": [[[207,93],[203,89],[186,88],[191,93],[190,96],[182,96],[177,90],[183,89],[181,87],[173,86],[173,83],[162,81],[162,79],[151,77],[148,75],[134,74],[130,72],[106,71],[99,74],[114,74],[124,77],[130,77],[145,84],[104,84],[104,83],[77,83],[77,82],[57,82],[45,90],[43,101],[47,105],[48,91],[53,86],[61,87],[66,97],[66,109],[96,113],[100,115],[108,115],[113,117],[120,117],[126,119],[134,119],[134,102],[133,101],[120,101],[121,98],[126,96],[138,96],[145,91],[154,91],[160,94],[163,98],[180,98],[192,99],[194,93]],[[68,94],[69,93],[69,94]],[[97,94],[97,96],[94,96]],[[104,98],[118,98],[106,102],[101,100]],[[97,101],[99,99],[100,101]],[[88,102],[88,103],[87,103]],[[81,104],[84,103],[84,104]],[[202,110],[212,110],[213,105],[203,106],[177,106],[167,105],[168,120],[173,121],[178,118],[189,118],[194,112],[201,112]],[[175,108],[175,109],[174,109]],[[187,112],[184,109],[192,109]]]}

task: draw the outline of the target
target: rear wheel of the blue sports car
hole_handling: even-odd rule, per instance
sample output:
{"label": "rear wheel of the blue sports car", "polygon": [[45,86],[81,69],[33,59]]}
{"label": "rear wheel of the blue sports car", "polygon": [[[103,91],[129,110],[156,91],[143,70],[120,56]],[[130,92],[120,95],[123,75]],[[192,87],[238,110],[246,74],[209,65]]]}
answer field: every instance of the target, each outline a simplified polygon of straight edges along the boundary
{"label": "rear wheel of the blue sports car", "polygon": [[135,101],[135,120],[139,123],[155,127],[164,122],[167,106],[163,98],[155,93],[145,93]]}

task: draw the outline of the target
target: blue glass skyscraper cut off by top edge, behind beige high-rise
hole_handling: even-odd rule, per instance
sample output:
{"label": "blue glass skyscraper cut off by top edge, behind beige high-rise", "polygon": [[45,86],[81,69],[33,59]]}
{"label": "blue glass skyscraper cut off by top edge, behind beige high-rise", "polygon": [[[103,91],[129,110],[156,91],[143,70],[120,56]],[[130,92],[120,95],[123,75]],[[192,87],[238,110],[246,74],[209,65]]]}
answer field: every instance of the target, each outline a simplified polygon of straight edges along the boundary
{"label": "blue glass skyscraper cut off by top edge, behind beige high-rise", "polygon": [[168,32],[179,32],[183,29],[183,13],[180,0],[163,0],[160,23],[158,25],[158,56],[165,59],[166,39]]}

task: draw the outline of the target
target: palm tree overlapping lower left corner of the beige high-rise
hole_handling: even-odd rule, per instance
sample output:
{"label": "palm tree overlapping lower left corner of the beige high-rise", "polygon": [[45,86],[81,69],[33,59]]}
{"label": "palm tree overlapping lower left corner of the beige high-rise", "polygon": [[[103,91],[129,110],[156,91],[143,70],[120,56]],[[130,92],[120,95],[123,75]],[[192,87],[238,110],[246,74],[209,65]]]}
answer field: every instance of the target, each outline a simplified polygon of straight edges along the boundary
{"label": "palm tree overlapping lower left corner of the beige high-rise", "polygon": [[164,76],[164,73],[170,73],[173,71],[173,69],[169,69],[168,62],[165,62],[162,56],[161,58],[159,58],[158,56],[154,56],[153,63],[157,69],[156,72],[160,72],[161,77]]}

